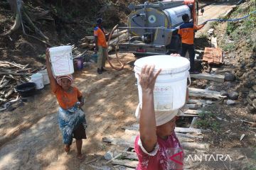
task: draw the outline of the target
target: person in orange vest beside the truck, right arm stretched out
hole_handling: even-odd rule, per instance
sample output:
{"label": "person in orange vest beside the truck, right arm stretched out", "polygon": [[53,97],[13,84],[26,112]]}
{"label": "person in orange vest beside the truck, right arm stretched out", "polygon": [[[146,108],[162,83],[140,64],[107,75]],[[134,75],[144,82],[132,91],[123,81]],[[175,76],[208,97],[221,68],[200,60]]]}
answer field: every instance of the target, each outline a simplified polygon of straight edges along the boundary
{"label": "person in orange vest beside the truck, right arm stretched out", "polygon": [[197,72],[194,68],[194,64],[195,64],[195,48],[193,45],[194,30],[200,30],[201,28],[203,28],[203,26],[206,23],[203,23],[200,26],[196,26],[192,22],[189,22],[188,14],[184,14],[182,16],[182,19],[184,23],[178,29],[178,34],[181,36],[181,42],[182,42],[181,56],[185,57],[186,52],[188,51],[190,66],[191,66],[191,69],[189,70],[189,72],[191,72],[192,74],[197,74],[199,72]]}

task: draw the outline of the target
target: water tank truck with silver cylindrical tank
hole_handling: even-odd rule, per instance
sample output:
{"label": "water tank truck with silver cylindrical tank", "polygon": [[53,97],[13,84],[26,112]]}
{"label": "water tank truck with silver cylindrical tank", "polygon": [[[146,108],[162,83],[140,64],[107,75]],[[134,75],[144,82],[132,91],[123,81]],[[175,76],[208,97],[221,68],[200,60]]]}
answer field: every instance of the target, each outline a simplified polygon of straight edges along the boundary
{"label": "water tank truck with silver cylindrical tank", "polygon": [[[129,41],[119,43],[119,52],[135,55],[165,55],[181,50],[178,28],[183,14],[198,23],[198,1],[158,1],[129,4],[127,27]],[[203,12],[203,10],[201,10]]]}

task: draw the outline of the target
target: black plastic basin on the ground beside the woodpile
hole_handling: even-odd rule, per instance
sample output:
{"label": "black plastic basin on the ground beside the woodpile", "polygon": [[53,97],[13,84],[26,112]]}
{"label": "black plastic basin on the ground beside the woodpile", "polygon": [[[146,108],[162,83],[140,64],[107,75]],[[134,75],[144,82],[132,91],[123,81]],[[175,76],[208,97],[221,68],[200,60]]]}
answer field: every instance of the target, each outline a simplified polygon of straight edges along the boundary
{"label": "black plastic basin on the ground beside the woodpile", "polygon": [[29,97],[35,94],[36,84],[34,83],[26,83],[16,86],[16,91],[21,97]]}

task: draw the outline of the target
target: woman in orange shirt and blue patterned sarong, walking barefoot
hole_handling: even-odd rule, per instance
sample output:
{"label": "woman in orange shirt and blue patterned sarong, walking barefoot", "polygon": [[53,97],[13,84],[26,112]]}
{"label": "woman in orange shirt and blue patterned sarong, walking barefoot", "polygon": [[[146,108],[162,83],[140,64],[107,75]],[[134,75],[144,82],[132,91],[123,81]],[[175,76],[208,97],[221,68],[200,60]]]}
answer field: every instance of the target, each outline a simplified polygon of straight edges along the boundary
{"label": "woman in orange shirt and blue patterned sarong, walking barefoot", "polygon": [[73,82],[71,74],[60,77],[53,76],[49,58],[49,49],[46,49],[46,69],[50,79],[50,89],[60,105],[58,123],[63,135],[64,150],[67,153],[70,152],[70,145],[74,137],[78,150],[77,157],[83,159],[82,139],[87,138],[85,133],[87,123],[85,113],[81,108],[84,105],[84,98],[78,88],[71,86]]}

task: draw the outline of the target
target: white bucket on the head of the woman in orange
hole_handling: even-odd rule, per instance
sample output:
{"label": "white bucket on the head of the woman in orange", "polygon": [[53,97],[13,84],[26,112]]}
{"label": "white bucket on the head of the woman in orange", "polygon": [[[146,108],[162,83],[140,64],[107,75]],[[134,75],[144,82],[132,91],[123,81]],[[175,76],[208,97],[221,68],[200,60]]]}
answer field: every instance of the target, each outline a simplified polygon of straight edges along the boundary
{"label": "white bucket on the head of the woman in orange", "polygon": [[74,65],[72,57],[72,47],[70,45],[51,47],[50,62],[55,76],[73,74]]}

